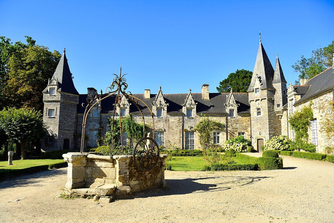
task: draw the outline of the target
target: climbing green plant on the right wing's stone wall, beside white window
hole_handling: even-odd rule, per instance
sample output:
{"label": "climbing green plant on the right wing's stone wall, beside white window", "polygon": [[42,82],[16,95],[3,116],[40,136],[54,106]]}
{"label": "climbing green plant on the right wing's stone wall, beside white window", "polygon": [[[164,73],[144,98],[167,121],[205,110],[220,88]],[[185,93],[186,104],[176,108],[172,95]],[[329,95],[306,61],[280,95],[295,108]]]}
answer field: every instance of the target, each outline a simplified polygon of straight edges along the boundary
{"label": "climbing green plant on the right wing's stone wall, beside white window", "polygon": [[290,126],[295,130],[295,141],[308,141],[309,124],[313,119],[311,105],[312,101],[308,106],[303,107],[300,111],[295,111],[294,114],[289,117]]}

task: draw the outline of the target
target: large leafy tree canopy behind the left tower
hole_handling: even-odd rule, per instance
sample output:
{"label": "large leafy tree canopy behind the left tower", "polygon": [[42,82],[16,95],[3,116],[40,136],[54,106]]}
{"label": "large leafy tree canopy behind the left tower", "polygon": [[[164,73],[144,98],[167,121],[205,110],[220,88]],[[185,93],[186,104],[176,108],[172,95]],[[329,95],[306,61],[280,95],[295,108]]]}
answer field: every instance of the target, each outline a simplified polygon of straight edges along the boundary
{"label": "large leafy tree canopy behind the left tower", "polygon": [[58,51],[35,45],[25,36],[27,44],[0,36],[0,109],[27,107],[42,109],[42,90],[61,57]]}

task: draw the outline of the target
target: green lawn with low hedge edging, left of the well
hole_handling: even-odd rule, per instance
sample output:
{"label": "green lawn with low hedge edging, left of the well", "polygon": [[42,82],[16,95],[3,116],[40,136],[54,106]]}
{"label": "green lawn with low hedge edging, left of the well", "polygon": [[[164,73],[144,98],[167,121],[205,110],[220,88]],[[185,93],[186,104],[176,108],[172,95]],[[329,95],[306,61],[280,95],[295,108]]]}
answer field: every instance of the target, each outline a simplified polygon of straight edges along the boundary
{"label": "green lawn with low hedge edging, left of the well", "polygon": [[64,166],[67,163],[63,159],[13,160],[13,165],[8,165],[8,161],[0,161],[0,179]]}

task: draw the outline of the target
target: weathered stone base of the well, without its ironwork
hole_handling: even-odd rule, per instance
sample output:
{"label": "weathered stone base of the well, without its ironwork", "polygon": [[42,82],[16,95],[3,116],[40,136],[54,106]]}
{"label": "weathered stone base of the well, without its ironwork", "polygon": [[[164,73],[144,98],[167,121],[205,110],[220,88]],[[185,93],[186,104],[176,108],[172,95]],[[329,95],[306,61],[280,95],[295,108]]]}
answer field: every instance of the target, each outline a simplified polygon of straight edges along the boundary
{"label": "weathered stone base of the well, without its ironwork", "polygon": [[135,166],[133,156],[100,156],[73,152],[62,156],[68,163],[66,194],[124,197],[147,189],[166,187],[167,155],[160,155],[156,167],[148,172]]}

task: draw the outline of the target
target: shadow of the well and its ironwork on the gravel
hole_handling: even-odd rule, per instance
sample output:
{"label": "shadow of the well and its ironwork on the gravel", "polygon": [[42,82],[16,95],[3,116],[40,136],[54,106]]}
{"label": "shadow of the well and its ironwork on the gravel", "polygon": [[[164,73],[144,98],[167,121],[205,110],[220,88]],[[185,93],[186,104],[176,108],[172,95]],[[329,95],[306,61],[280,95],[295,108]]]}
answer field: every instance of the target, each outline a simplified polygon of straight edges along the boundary
{"label": "shadow of the well and its ironwork on the gravel", "polygon": [[[156,197],[169,195],[184,195],[191,193],[205,193],[213,191],[225,191],[234,187],[241,187],[247,184],[258,182],[262,179],[270,178],[267,176],[215,176],[199,177],[185,179],[167,179],[167,190],[147,191],[135,194],[133,198]],[[210,183],[201,183],[200,181],[208,180]],[[132,199],[132,198],[129,198]]]}

